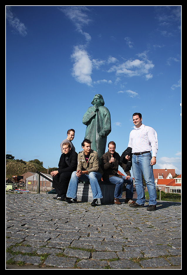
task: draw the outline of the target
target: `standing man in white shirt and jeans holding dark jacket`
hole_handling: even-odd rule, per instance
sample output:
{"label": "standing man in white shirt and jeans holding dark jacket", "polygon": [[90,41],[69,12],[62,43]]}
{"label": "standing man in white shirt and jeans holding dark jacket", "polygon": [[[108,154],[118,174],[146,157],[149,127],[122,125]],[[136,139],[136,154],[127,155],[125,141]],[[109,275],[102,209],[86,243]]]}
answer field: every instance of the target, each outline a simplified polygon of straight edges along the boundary
{"label": "standing man in white shirt and jeans holding dark jacket", "polygon": [[[147,210],[156,210],[156,187],[153,165],[156,164],[156,153],[158,150],[157,133],[153,128],[142,124],[140,113],[134,113],[132,120],[135,126],[130,132],[128,147],[132,148],[132,172],[137,191],[137,201],[130,204],[130,207],[144,206],[145,192],[142,179],[142,175],[144,175],[149,193],[149,207],[147,207]],[[130,156],[127,155],[125,158],[129,160]]]}

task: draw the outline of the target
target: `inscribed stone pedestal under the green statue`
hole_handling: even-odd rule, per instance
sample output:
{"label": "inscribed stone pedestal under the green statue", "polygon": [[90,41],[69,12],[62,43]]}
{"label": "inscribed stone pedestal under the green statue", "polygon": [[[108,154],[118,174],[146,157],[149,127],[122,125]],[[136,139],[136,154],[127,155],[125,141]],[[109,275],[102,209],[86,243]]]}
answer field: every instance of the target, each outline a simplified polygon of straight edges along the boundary
{"label": "inscribed stone pedestal under the green statue", "polygon": [[[102,192],[102,199],[98,199],[98,204],[112,203],[114,199],[115,185],[108,182],[99,181]],[[89,182],[80,182],[77,190],[77,200],[81,202],[92,202],[93,195]]]}

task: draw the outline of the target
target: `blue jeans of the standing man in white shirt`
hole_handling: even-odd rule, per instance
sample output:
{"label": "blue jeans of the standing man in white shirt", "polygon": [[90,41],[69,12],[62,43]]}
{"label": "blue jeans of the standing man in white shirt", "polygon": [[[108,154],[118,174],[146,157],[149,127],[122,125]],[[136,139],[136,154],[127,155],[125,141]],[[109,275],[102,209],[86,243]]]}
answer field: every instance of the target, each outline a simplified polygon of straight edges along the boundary
{"label": "blue jeans of the standing man in white shirt", "polygon": [[132,172],[137,191],[137,204],[144,205],[145,192],[143,186],[143,176],[149,193],[149,205],[156,205],[156,186],[154,182],[153,166],[150,165],[151,153],[143,155],[132,155]]}

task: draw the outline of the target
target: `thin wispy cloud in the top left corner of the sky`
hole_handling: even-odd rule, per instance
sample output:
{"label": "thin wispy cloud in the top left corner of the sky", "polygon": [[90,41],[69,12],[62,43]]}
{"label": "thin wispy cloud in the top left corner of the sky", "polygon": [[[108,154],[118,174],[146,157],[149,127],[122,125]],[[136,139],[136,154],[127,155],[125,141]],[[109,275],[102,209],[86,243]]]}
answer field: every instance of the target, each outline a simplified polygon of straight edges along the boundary
{"label": "thin wispy cloud in the top left corner of the sky", "polygon": [[20,20],[14,16],[11,12],[11,7],[6,6],[6,19],[9,22],[9,25],[14,28],[14,33],[19,33],[21,36],[26,36],[26,26],[20,22]]}

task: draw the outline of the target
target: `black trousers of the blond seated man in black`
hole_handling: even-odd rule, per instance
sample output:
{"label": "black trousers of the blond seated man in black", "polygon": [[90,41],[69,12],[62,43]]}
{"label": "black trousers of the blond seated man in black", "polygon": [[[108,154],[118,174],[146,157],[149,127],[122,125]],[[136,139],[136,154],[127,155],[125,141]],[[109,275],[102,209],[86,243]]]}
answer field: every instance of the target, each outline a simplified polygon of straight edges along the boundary
{"label": "black trousers of the blond seated man in black", "polygon": [[72,172],[63,172],[62,174],[57,174],[53,177],[53,187],[55,188],[57,197],[61,197],[63,199],[66,198],[71,174]]}

